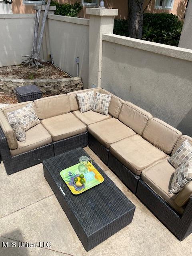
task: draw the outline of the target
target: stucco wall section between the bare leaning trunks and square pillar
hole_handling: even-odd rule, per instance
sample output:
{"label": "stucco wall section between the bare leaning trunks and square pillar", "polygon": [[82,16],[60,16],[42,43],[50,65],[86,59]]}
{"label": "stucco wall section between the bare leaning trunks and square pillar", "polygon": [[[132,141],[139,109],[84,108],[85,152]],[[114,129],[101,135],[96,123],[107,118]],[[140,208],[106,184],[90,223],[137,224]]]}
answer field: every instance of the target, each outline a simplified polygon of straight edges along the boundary
{"label": "stucco wall section between the bare leaning trunks and square pillar", "polygon": [[80,58],[79,76],[88,88],[89,20],[48,15],[50,53],[54,64],[72,76],[77,76],[75,58]]}

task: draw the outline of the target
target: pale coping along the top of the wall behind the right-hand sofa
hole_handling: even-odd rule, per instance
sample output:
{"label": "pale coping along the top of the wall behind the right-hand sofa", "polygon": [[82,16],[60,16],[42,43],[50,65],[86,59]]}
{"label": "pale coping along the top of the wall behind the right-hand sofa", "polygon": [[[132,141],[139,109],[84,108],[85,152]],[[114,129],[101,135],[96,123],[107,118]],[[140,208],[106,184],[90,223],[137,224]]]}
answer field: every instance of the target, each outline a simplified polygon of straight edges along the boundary
{"label": "pale coping along the top of the wall behind the right-hand sofa", "polygon": [[118,36],[115,34],[103,34],[102,40],[192,62],[192,50],[190,49],[144,41],[126,36]]}

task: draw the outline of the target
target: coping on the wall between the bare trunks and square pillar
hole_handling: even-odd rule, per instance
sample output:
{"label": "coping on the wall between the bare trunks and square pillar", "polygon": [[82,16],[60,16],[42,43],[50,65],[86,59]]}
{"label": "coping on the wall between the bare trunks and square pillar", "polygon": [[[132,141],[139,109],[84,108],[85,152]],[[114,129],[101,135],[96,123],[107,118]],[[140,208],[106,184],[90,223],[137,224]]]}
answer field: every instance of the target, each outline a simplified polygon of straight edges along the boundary
{"label": "coping on the wall between the bare trunks and square pillar", "polygon": [[89,26],[89,19],[48,14],[48,19]]}

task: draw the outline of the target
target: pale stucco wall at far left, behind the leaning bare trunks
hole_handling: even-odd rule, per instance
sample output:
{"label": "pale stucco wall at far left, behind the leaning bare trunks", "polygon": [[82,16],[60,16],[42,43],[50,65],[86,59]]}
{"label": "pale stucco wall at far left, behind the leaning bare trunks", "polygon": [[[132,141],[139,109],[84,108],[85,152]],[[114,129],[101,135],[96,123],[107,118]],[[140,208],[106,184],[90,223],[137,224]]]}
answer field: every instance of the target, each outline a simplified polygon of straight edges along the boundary
{"label": "pale stucco wall at far left, behind the leaning bare trunks", "polygon": [[34,14],[0,14],[0,66],[20,64],[32,49]]}

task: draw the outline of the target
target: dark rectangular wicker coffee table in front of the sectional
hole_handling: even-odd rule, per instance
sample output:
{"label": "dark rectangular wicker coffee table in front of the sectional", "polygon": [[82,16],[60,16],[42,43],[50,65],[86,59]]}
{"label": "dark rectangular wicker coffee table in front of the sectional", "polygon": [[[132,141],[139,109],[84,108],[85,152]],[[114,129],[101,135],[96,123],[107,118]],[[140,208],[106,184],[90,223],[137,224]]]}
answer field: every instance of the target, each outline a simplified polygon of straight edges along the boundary
{"label": "dark rectangular wicker coffee table in front of the sectional", "polygon": [[89,155],[83,148],[43,161],[44,176],[66,213],[86,251],[91,250],[132,222],[135,206],[93,161],[104,182],[74,196],[60,171]]}

